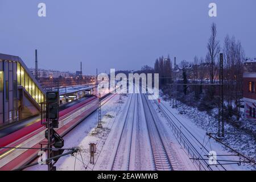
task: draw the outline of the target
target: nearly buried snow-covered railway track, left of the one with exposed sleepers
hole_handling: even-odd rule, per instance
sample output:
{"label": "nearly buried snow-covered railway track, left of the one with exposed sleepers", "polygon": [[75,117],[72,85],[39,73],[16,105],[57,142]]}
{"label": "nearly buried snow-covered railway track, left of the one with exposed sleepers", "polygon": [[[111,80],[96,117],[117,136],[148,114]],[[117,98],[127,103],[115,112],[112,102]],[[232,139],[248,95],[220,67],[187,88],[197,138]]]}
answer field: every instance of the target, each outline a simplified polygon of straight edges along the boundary
{"label": "nearly buried snow-covered railway track, left of the one with exposed sleepers", "polygon": [[[130,168],[130,155],[131,155],[131,142],[133,139],[133,125],[134,113],[137,106],[137,94],[132,94],[130,104],[125,116],[125,123],[123,124],[122,132],[118,140],[118,147],[115,151],[115,156],[112,164],[112,171],[129,171]],[[134,102],[133,102],[134,100]],[[134,103],[132,105],[132,103]],[[131,115],[131,113],[133,113]],[[127,154],[127,155],[126,155]]]}

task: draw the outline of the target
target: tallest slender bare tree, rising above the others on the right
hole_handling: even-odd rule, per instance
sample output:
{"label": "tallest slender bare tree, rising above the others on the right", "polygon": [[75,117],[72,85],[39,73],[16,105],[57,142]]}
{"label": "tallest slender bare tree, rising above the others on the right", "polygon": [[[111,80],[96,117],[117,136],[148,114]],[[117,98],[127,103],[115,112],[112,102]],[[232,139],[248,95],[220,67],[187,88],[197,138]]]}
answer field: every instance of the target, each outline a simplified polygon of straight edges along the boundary
{"label": "tallest slender bare tree, rising above the others on the right", "polygon": [[220,42],[217,40],[217,29],[216,29],[216,24],[212,23],[211,27],[211,35],[208,41],[208,55],[210,58],[210,83],[213,84],[213,79],[214,79],[214,65],[215,65],[215,60],[218,57],[218,54],[220,53]]}

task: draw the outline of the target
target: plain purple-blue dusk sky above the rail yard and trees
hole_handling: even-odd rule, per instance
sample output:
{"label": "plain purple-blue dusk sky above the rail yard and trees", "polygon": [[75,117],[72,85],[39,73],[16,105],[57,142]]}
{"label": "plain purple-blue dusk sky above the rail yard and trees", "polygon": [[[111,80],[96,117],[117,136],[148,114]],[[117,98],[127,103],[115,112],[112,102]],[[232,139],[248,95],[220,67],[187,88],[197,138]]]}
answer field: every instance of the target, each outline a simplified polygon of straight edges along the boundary
{"label": "plain purple-blue dusk sky above the rail yard and trees", "polygon": [[[46,3],[47,17],[38,16]],[[208,5],[217,3],[217,17]],[[0,53],[35,67],[84,75],[154,65],[161,55],[177,61],[205,57],[210,24],[241,41],[247,57],[256,56],[255,0],[0,0]]]}

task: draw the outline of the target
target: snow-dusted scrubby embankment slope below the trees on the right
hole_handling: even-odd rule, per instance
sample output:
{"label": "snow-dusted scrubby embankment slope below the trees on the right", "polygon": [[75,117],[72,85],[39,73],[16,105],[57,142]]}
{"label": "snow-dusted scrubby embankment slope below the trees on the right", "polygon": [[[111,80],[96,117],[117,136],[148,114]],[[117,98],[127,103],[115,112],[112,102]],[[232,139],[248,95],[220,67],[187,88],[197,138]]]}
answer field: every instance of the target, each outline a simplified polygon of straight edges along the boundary
{"label": "snow-dusted scrubby embankment slope below the trees on the right", "polygon": [[[164,96],[161,100],[162,104],[169,107],[169,109],[176,113],[176,115],[178,115],[180,118],[184,118],[182,122],[184,122],[187,126],[191,127],[191,130],[201,140],[201,142],[203,142],[204,140],[205,133],[217,133],[218,120],[216,117],[216,109],[213,109],[212,112],[208,114],[207,111],[199,111],[197,108],[185,105],[179,101],[177,101],[177,109],[173,109],[170,106],[170,101],[166,100]],[[185,112],[185,114],[181,115],[180,111]],[[244,122],[243,124],[241,124],[241,126],[245,128],[251,126],[246,124],[248,123],[248,121],[242,120],[240,122]],[[255,127],[250,127],[250,129],[254,130]],[[199,134],[199,132],[202,134]],[[225,133],[234,134],[245,132],[243,132],[242,129],[237,129],[229,123],[225,123]],[[256,159],[256,143],[255,137],[253,137],[253,135],[226,135],[226,138],[222,141],[228,144],[230,147],[234,148],[235,150],[241,152],[241,154],[249,156],[249,158],[252,158],[254,160]],[[225,148],[221,144],[220,146],[222,148]],[[227,151],[227,148],[225,148],[225,150]]]}

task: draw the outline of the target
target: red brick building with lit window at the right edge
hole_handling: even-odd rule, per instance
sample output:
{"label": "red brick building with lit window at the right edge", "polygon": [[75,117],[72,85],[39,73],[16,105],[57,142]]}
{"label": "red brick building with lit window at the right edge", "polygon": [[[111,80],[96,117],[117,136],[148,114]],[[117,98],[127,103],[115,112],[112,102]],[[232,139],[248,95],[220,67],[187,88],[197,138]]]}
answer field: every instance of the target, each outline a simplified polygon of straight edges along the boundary
{"label": "red brick building with lit window at the right edge", "polygon": [[256,121],[256,73],[243,73],[245,118]]}

